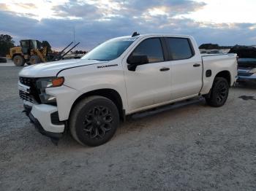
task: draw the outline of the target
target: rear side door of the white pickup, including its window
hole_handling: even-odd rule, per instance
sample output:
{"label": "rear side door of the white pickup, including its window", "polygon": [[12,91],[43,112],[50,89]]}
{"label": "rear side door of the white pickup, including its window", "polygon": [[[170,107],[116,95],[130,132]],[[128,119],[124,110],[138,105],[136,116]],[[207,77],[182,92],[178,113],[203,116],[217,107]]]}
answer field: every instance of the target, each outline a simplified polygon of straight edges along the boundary
{"label": "rear side door of the white pickup, including its window", "polygon": [[202,87],[202,60],[190,39],[166,37],[171,64],[171,100],[197,95]]}

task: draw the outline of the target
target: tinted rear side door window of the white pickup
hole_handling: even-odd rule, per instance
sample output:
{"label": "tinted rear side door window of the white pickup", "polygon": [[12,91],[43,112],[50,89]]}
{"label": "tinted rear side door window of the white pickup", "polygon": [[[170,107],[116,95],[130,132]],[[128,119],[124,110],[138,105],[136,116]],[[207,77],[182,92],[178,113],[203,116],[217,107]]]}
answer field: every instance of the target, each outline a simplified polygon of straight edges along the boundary
{"label": "tinted rear side door window of the white pickup", "polygon": [[187,38],[166,37],[165,42],[172,61],[189,59],[195,55],[192,44]]}

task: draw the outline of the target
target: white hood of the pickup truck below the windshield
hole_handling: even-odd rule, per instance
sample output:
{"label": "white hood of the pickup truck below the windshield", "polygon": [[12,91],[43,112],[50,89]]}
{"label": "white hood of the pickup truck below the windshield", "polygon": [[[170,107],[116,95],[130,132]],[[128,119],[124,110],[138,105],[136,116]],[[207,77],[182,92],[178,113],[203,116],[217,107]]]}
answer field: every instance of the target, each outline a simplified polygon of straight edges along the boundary
{"label": "white hood of the pickup truck below the windshield", "polygon": [[23,68],[20,77],[55,77],[59,71],[78,66],[86,66],[97,63],[105,63],[103,61],[72,59],[66,61],[55,61],[48,63],[39,63]]}

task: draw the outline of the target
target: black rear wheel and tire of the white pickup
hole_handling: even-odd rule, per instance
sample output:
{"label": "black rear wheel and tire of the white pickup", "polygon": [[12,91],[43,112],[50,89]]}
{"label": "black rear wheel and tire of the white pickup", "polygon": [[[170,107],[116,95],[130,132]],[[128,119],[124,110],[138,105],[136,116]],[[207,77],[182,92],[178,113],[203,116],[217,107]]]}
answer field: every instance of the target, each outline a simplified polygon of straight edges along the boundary
{"label": "black rear wheel and tire of the white pickup", "polygon": [[227,101],[229,91],[229,84],[227,79],[223,77],[216,77],[214,84],[211,87],[211,92],[206,95],[206,103],[209,106],[219,107],[223,106]]}

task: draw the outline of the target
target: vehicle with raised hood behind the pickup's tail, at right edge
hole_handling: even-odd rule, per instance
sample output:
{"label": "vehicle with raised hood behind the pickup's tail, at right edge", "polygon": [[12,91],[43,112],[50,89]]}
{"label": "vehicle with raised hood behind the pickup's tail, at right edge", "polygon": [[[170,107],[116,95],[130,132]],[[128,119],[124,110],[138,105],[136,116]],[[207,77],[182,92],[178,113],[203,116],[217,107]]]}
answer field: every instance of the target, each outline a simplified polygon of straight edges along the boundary
{"label": "vehicle with raised hood behind the pickup's tail, at right edge", "polygon": [[238,80],[256,82],[256,47],[236,45],[230,53],[238,55]]}

